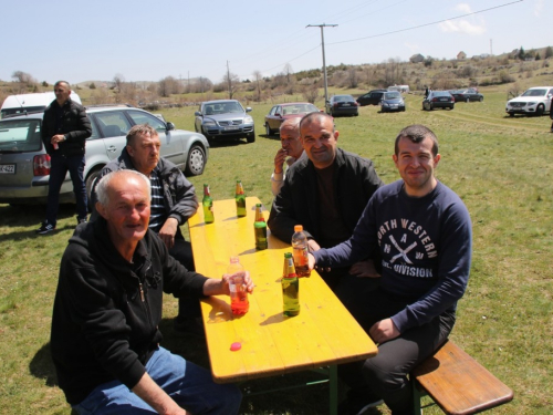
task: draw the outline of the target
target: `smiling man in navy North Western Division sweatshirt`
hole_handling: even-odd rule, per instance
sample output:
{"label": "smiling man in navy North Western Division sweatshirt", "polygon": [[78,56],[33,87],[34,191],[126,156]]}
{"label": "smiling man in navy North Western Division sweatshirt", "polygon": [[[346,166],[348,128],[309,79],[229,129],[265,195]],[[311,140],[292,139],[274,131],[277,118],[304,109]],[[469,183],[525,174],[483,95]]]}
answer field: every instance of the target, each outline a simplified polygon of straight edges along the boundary
{"label": "smiling man in navy North Western Division sweatshirt", "polygon": [[413,413],[407,375],[447,340],[469,279],[470,217],[435,177],[436,135],[422,125],[404,128],[393,159],[401,179],[374,194],[353,236],[310,253],[311,268],[348,266],[374,248],[382,256],[378,289],[363,292],[349,276],[345,305],[378,344],[378,355],[342,367],[352,387],[344,413],[357,414],[380,400],[394,415]]}

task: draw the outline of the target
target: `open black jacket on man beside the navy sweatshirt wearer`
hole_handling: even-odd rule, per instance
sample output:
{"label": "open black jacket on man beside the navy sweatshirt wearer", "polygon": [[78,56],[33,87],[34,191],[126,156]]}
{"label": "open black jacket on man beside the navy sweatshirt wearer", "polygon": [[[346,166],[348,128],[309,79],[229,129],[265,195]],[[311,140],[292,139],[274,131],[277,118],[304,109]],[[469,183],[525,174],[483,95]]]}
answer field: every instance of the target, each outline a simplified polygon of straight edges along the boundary
{"label": "open black jacket on man beside the navy sweatshirt wearer", "polygon": [[[333,180],[337,209],[353,234],[368,199],[384,183],[372,160],[341,148],[336,149]],[[307,237],[321,243],[319,206],[315,166],[304,155],[288,169],[267,225],[274,236],[288,243],[294,234],[294,225],[303,225]]]}

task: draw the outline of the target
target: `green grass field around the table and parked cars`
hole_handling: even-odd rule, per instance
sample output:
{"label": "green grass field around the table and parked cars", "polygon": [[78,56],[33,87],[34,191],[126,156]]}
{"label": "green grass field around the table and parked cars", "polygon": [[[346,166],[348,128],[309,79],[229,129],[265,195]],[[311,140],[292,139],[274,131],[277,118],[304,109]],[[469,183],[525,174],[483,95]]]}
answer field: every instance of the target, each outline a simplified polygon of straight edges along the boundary
{"label": "green grass field around the table and parked cars", "polygon": [[[547,76],[545,76],[547,77]],[[551,84],[543,79],[540,84]],[[504,116],[507,94],[482,89],[483,103],[458,103],[453,111],[424,112],[421,97],[407,96],[407,111],[379,114],[365,106],[358,117],[336,118],[338,146],[372,158],[385,183],[398,178],[392,153],[397,133],[425,124],[438,136],[437,175],[466,203],[473,224],[469,288],[459,302],[451,338],[514,390],[514,401],[493,414],[551,414],[553,407],[553,134],[551,120]],[[303,101],[289,96],[285,101]],[[257,141],[215,143],[202,176],[190,180],[201,197],[210,185],[215,199],[233,197],[234,180],[270,208],[270,175],[279,137],[264,136],[263,116],[272,103],[254,104]],[[322,102],[316,103],[322,107]],[[159,111],[178,128],[194,129],[196,107]],[[35,236],[43,207],[0,205],[0,385],[1,414],[70,414],[49,357],[49,335],[58,268],[75,219],[72,206],[60,211],[55,235]],[[217,277],[217,276],[211,276]],[[254,277],[254,276],[253,276]],[[187,359],[208,364],[205,346],[176,338],[167,298],[164,344]],[[273,387],[310,375],[251,382]],[[248,414],[324,414],[327,391],[285,392],[244,398]],[[374,413],[388,414],[385,406]],[[439,414],[436,407],[425,414]]]}

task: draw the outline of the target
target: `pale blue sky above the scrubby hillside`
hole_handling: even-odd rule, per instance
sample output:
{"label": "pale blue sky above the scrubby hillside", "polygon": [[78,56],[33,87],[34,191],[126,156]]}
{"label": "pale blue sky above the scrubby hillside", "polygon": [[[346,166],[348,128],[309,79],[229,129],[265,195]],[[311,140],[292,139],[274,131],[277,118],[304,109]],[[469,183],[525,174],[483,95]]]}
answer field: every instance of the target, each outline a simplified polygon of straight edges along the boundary
{"label": "pale blue sky above the scrubby hillside", "polygon": [[[553,0],[0,0],[0,80],[241,80],[553,44]],[[487,11],[484,11],[487,10]]]}

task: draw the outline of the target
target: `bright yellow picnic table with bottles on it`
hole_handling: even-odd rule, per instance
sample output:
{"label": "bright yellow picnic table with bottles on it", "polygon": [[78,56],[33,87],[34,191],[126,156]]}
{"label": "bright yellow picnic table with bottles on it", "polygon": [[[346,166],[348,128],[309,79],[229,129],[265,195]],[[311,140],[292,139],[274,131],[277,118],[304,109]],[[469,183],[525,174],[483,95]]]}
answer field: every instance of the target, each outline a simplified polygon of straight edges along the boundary
{"label": "bright yellow picnic table with bottles on it", "polygon": [[[241,382],[328,366],[330,413],[335,414],[336,365],[374,356],[377,347],[315,271],[300,279],[300,314],[283,315],[280,280],[284,252],[292,248],[268,229],[269,249],[255,250],[258,203],[248,197],[247,216],[239,218],[234,199],[216,200],[215,222],[205,224],[201,208],[188,221],[198,272],[222,276],[230,256],[238,255],[255,284],[250,310],[242,317],[232,315],[227,295],[201,301],[213,380]],[[269,212],[263,215],[267,219]],[[241,349],[231,351],[237,342]]]}

